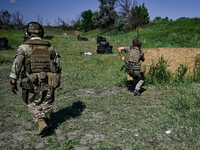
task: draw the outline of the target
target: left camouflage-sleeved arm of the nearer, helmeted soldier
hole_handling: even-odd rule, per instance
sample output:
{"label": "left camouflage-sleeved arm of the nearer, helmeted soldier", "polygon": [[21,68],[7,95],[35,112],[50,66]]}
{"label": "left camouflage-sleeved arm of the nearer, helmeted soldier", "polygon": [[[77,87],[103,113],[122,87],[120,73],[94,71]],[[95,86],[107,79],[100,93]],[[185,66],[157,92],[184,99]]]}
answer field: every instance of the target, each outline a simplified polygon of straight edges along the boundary
{"label": "left camouflage-sleeved arm of the nearer, helmeted soldier", "polygon": [[23,51],[23,46],[20,46],[15,54],[15,59],[13,61],[13,65],[11,68],[11,74],[10,77],[12,78],[12,83],[15,83],[16,80],[19,78],[19,74],[21,72],[22,69],[22,65],[24,62],[24,51]]}

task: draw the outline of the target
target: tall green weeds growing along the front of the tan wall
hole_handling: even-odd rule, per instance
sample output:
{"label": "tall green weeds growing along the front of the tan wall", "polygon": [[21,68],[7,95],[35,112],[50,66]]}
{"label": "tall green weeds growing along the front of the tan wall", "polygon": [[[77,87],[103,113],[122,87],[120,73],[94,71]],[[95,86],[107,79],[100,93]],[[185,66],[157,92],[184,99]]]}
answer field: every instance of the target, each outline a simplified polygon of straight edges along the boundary
{"label": "tall green weeds growing along the front of the tan wall", "polygon": [[164,56],[158,58],[157,62],[151,61],[146,73],[146,84],[155,85],[183,85],[191,84],[199,80],[199,66],[194,68],[193,73],[187,74],[188,63],[179,64],[175,73],[170,72],[167,68],[170,64],[165,60]]}

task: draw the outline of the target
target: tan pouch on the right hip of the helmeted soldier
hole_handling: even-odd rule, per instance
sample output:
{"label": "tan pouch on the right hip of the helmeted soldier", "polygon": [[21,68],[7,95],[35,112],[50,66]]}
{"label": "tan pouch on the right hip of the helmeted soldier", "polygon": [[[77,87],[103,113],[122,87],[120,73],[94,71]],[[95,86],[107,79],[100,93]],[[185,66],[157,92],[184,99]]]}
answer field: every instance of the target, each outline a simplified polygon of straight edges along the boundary
{"label": "tan pouch on the right hip of the helmeted soldier", "polygon": [[48,77],[48,85],[50,88],[55,89],[60,86],[61,75],[59,73],[48,72],[47,77]]}

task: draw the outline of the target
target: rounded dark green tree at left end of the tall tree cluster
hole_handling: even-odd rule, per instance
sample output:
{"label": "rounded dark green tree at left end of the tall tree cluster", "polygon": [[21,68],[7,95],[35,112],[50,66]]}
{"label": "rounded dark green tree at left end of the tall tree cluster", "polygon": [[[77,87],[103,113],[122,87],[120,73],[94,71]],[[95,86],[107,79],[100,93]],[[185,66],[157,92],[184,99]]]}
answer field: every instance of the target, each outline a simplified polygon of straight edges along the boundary
{"label": "rounded dark green tree at left end of the tall tree cluster", "polygon": [[83,18],[81,29],[83,29],[85,32],[88,30],[92,30],[94,27],[94,22],[92,20],[93,13],[91,10],[83,11],[81,13],[81,17]]}

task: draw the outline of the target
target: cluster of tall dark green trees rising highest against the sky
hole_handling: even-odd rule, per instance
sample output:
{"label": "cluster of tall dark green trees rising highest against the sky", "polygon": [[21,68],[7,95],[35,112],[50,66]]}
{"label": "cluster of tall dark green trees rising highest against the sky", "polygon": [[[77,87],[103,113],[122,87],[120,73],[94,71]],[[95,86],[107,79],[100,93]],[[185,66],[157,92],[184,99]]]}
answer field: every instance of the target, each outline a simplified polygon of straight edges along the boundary
{"label": "cluster of tall dark green trees rising highest against the sky", "polygon": [[105,31],[117,30],[129,32],[136,27],[149,23],[149,13],[145,4],[138,5],[137,0],[98,0],[99,11],[81,13],[81,28],[88,31],[101,28]]}

